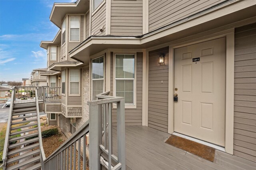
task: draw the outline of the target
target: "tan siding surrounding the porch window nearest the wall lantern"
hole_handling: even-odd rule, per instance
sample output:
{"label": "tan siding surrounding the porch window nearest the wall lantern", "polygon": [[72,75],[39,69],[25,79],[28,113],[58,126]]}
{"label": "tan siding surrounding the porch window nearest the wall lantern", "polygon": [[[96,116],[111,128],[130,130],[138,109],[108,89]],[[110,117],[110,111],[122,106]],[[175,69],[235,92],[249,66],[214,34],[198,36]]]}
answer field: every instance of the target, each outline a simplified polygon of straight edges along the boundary
{"label": "tan siding surrounding the porch window nearest the wall lantern", "polygon": [[[110,60],[110,94],[113,95],[113,53]],[[125,109],[125,125],[142,125],[142,53],[136,58],[136,109]],[[116,109],[113,109],[113,123],[116,125]]]}

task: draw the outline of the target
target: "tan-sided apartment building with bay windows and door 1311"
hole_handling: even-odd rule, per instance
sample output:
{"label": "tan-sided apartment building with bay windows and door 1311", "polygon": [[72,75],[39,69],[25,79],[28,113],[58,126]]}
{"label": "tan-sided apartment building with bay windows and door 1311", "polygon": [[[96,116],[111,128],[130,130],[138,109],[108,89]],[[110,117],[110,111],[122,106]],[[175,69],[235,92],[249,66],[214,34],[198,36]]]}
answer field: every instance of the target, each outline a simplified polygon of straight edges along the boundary
{"label": "tan-sided apartment building with bay windows and door 1311", "polygon": [[40,47],[67,137],[89,119],[87,102],[110,91],[125,98],[126,125],[256,162],[256,1],[78,0],[54,3],[50,21],[61,30]]}

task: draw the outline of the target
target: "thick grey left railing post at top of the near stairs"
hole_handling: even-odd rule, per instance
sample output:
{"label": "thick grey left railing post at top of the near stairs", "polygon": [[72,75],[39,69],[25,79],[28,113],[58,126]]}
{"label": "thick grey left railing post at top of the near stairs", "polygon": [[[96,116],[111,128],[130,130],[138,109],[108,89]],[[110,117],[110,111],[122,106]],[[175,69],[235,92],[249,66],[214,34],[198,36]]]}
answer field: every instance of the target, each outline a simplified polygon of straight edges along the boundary
{"label": "thick grey left railing post at top of the near stairs", "polygon": [[[100,105],[101,107],[101,105]],[[102,110],[98,105],[90,105],[90,118],[89,118],[89,167],[90,170],[100,170],[100,139],[102,139],[102,118],[100,113]],[[101,127],[101,128],[100,128]]]}

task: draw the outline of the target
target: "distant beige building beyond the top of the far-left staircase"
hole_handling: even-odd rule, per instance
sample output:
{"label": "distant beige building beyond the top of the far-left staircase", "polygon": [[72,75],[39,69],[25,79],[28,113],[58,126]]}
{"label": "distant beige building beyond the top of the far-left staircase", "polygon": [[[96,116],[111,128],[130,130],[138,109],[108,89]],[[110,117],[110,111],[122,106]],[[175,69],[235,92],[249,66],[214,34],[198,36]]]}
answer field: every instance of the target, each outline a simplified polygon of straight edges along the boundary
{"label": "distant beige building beyond the top of the far-left staircase", "polygon": [[46,72],[47,68],[37,68],[31,72],[31,85],[32,86],[47,86],[47,77],[40,74]]}

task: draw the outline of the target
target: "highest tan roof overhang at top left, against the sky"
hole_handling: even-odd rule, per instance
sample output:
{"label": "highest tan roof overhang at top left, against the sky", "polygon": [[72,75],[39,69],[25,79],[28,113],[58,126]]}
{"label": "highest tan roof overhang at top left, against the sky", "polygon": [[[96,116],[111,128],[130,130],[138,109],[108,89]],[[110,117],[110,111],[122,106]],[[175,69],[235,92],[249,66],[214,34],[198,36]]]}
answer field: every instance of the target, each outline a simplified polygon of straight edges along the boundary
{"label": "highest tan roof overhang at top left, against the sky", "polygon": [[62,20],[66,14],[85,14],[90,7],[87,0],[77,0],[75,3],[54,3],[50,21],[61,29]]}

